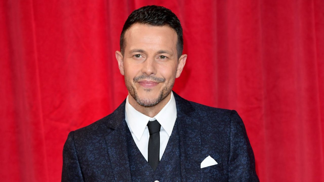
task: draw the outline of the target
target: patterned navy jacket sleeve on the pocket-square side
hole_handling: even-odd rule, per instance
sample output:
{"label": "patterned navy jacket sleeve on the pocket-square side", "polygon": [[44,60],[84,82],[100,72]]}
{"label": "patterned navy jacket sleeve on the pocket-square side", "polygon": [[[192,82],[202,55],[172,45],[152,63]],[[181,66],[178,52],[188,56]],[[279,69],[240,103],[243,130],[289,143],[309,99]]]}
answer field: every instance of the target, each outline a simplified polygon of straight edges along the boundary
{"label": "patterned navy jacket sleeve on the pocket-square side", "polygon": [[228,181],[258,182],[255,160],[244,124],[235,110],[231,111]]}

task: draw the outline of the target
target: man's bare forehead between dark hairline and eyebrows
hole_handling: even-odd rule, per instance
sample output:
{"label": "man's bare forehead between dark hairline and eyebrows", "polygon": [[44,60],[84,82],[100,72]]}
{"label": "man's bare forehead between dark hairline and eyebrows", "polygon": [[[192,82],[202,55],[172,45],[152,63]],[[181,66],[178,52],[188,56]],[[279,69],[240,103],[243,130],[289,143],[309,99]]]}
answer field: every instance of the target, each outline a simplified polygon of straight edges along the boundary
{"label": "man's bare forehead between dark hairline and eyebrows", "polygon": [[177,44],[177,33],[169,26],[150,26],[134,24],[124,35],[125,51],[132,49],[174,51]]}

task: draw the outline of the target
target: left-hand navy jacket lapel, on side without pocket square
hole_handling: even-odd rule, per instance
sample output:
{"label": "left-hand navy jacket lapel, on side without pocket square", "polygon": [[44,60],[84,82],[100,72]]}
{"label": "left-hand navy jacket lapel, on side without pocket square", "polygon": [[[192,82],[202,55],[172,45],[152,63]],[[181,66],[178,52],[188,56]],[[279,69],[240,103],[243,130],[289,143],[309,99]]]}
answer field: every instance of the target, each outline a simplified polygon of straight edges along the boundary
{"label": "left-hand navy jacket lapel, on side without pocket square", "polygon": [[112,113],[107,126],[111,129],[105,136],[115,181],[131,181],[131,168],[127,150],[125,101]]}

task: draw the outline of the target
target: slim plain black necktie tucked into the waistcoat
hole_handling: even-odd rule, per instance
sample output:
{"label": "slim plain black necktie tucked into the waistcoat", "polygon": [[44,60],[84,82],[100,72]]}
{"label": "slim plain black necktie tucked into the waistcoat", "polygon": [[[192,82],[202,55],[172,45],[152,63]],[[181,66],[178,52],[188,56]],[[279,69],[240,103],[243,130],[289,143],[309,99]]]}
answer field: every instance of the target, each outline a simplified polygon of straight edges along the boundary
{"label": "slim plain black necktie tucked into the waistcoat", "polygon": [[150,138],[148,139],[148,164],[155,171],[160,162],[160,129],[161,125],[157,120],[148,121],[148,132]]}

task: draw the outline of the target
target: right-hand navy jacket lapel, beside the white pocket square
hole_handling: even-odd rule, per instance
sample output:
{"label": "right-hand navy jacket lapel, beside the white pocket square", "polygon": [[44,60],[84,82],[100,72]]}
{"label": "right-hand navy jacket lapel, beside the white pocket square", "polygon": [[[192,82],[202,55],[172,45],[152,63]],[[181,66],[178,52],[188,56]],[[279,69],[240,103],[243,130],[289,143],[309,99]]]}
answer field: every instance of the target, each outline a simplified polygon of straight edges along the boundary
{"label": "right-hand navy jacket lapel, beside the white pocket square", "polygon": [[189,101],[174,92],[173,94],[177,104],[181,179],[183,181],[200,181],[200,122],[194,116],[194,108]]}

